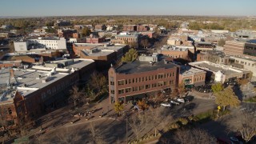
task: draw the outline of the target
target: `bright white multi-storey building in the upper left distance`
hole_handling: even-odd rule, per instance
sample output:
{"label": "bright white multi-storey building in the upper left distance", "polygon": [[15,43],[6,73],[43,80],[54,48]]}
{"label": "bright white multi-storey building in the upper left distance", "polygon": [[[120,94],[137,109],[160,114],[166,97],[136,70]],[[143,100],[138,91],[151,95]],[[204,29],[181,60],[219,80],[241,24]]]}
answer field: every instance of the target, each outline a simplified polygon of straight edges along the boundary
{"label": "bright white multi-storey building in the upper left distance", "polygon": [[42,38],[28,39],[26,42],[14,42],[16,52],[46,49],[46,50],[66,50],[65,38]]}

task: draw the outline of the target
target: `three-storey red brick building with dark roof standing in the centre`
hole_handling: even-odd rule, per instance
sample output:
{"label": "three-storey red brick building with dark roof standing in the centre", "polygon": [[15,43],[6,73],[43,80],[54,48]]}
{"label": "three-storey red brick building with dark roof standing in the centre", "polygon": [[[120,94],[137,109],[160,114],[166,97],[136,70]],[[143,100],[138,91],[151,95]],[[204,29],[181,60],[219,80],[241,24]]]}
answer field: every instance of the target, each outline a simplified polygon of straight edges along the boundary
{"label": "three-storey red brick building with dark roof standing in the centre", "polygon": [[127,102],[137,94],[174,89],[178,85],[179,66],[156,57],[123,63],[109,70],[110,102]]}

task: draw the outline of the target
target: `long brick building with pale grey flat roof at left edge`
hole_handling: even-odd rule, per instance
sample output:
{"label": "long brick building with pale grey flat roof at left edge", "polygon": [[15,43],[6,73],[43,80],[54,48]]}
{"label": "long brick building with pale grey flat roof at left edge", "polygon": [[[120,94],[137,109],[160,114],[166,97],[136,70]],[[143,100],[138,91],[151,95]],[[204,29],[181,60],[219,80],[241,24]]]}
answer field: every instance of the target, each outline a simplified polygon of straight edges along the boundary
{"label": "long brick building with pale grey flat roof at left edge", "polygon": [[[63,68],[65,67],[65,68]],[[8,125],[38,118],[61,106],[70,86],[95,70],[90,59],[47,62],[44,66],[5,68],[0,78],[0,114]]]}

